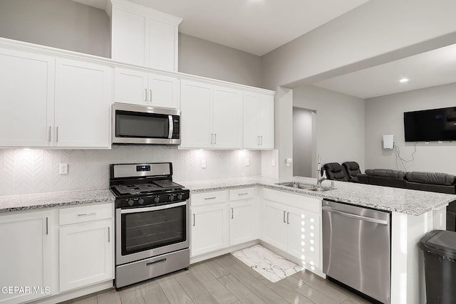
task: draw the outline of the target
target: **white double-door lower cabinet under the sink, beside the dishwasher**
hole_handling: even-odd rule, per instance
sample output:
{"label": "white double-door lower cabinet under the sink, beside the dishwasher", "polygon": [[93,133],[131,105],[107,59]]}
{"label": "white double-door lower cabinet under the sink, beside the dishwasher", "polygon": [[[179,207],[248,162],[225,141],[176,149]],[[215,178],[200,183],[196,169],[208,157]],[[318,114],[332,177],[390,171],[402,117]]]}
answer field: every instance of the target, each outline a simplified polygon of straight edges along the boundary
{"label": "white double-door lower cabinet under the sink, beside the dishwasher", "polygon": [[321,268],[321,200],[263,189],[261,240]]}

